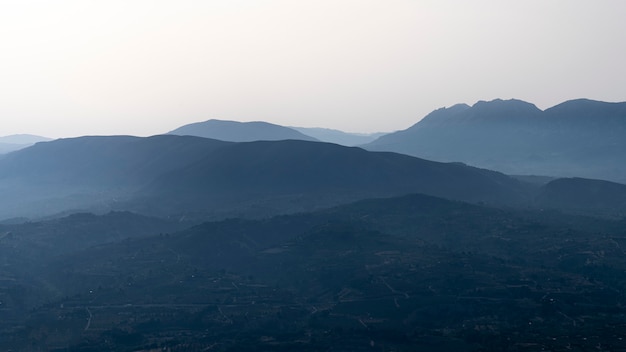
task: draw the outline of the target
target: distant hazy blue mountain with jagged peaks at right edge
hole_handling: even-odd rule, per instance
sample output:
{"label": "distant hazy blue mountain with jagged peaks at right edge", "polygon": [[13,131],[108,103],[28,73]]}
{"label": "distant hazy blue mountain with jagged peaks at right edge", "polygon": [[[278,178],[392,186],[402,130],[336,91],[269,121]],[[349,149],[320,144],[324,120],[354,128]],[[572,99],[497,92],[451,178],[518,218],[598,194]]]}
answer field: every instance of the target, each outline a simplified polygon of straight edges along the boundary
{"label": "distant hazy blue mountain with jagged peaks at right edge", "polygon": [[626,103],[579,99],[545,111],[520,100],[459,104],[364,147],[507,174],[626,182]]}

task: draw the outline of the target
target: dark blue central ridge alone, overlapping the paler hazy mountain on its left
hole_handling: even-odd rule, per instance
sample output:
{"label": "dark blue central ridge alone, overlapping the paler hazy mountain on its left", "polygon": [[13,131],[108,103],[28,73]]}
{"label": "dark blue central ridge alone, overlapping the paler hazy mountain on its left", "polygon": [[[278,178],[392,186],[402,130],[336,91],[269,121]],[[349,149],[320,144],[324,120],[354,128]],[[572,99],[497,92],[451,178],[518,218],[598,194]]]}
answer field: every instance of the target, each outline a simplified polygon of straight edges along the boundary
{"label": "dark blue central ridge alone, overlapping the paler hazy mountain on its left", "polygon": [[144,194],[154,197],[149,204],[177,204],[180,199],[196,209],[245,206],[267,216],[415,192],[510,204],[521,202],[526,190],[500,173],[457,163],[291,140],[230,145],[161,175]]}

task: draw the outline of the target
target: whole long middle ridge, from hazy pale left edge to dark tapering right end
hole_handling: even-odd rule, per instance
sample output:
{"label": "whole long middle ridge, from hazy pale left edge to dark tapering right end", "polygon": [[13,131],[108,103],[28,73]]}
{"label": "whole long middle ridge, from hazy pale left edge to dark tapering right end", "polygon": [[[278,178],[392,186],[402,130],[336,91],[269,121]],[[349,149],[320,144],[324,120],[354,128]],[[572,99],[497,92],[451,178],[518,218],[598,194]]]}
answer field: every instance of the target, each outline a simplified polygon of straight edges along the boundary
{"label": "whole long middle ridge, from hazy pale left edge to dark tapering right end", "polygon": [[0,218],[78,210],[268,216],[415,192],[510,204],[526,190],[458,163],[296,140],[81,137],[0,159]]}

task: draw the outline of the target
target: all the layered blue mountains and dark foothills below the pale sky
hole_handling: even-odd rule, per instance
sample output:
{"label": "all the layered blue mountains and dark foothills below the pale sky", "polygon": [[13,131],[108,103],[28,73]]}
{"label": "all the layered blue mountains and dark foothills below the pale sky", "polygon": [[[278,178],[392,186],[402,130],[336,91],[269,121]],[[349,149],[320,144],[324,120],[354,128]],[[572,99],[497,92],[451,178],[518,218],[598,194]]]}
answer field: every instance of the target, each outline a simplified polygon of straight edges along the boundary
{"label": "all the layered blue mountains and dark foothills below the pale sky", "polygon": [[2,154],[0,345],[626,350],[626,185],[580,177],[620,174],[622,108],[456,105],[368,144],[402,153],[210,120]]}

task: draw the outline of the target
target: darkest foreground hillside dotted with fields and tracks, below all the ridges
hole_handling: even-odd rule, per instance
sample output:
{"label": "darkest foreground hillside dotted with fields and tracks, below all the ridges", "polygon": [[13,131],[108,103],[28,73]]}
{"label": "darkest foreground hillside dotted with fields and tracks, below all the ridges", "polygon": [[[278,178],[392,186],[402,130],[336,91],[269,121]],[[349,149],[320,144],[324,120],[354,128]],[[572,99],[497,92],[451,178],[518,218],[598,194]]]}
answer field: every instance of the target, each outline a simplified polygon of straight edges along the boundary
{"label": "darkest foreground hillside dotted with fields and tracks, below all the ridges", "polygon": [[[131,238],[36,260],[22,241],[56,223],[14,226],[0,238],[4,347],[626,348],[623,221],[424,195],[153,235],[145,225],[131,230],[147,218],[108,216],[118,220],[61,221]],[[109,220],[118,225],[93,226]]]}

